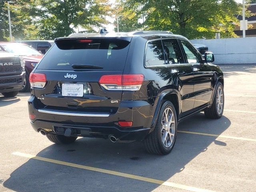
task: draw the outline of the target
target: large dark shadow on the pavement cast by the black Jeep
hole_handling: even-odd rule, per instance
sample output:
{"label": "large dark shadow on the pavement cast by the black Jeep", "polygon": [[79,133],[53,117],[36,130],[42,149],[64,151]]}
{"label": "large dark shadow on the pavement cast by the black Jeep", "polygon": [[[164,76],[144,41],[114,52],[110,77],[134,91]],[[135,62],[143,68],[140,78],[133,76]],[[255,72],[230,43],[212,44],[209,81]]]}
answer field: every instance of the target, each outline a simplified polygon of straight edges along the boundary
{"label": "large dark shadow on the pavement cast by the black Jeep", "polygon": [[[219,135],[230,124],[225,116],[219,120],[208,120],[204,114],[197,114],[181,122],[178,130]],[[204,153],[213,142],[226,146],[226,143],[215,139],[212,136],[178,133],[172,152],[158,156],[147,154],[142,142],[112,144],[108,140],[80,138],[70,145],[52,144],[37,156],[166,181],[185,170],[186,164]],[[180,184],[189,185],[186,180]],[[142,192],[152,191],[159,185],[30,159],[12,172],[4,186],[17,192]]]}

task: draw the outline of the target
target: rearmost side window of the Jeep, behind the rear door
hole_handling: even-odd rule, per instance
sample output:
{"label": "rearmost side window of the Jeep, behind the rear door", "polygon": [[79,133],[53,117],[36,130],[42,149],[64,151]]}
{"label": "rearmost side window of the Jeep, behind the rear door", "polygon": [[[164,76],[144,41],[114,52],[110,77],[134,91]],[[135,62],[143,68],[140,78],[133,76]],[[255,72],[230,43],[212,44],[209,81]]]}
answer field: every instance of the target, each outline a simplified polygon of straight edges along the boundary
{"label": "rearmost side window of the Jeep, behind the rear door", "polygon": [[146,48],[146,66],[164,65],[164,51],[161,40],[148,42]]}

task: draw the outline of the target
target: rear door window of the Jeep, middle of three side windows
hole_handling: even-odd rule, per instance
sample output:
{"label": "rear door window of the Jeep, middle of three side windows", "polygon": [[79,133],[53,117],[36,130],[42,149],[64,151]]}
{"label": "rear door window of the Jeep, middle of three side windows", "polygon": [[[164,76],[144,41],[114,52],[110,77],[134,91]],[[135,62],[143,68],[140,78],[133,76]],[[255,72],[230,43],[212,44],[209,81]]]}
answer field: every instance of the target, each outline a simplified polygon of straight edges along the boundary
{"label": "rear door window of the Jeep, middle of three side windows", "polygon": [[183,64],[184,59],[176,39],[162,40],[168,64]]}

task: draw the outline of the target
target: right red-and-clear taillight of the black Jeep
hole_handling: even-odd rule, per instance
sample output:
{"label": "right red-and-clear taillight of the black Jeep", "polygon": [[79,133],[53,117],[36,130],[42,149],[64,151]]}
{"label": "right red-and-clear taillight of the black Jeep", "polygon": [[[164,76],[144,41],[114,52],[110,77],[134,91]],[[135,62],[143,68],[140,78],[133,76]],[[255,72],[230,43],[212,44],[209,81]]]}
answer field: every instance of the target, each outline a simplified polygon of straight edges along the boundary
{"label": "right red-and-clear taillight of the black Jeep", "polygon": [[140,90],[143,81],[143,74],[103,75],[101,76],[99,83],[106,90],[136,91]]}

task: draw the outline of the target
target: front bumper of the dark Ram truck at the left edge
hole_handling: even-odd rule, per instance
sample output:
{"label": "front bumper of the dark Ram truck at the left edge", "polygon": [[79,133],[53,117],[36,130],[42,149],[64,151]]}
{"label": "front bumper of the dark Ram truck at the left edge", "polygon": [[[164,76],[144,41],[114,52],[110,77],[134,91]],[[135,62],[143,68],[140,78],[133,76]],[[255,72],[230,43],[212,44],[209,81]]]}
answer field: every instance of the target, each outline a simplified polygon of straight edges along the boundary
{"label": "front bumper of the dark Ram truck at the left edge", "polygon": [[25,72],[14,76],[0,76],[0,93],[22,90],[24,78]]}

